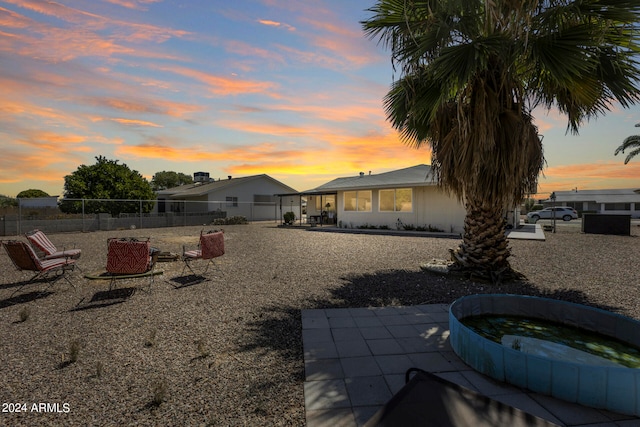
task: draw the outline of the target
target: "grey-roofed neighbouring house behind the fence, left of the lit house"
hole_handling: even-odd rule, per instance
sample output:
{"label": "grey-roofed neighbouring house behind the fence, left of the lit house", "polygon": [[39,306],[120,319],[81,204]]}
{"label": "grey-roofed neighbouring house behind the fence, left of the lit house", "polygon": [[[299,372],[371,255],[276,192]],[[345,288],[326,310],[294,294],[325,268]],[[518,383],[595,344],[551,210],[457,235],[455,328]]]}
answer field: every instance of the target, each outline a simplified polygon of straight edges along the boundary
{"label": "grey-roofed neighbouring house behind the fence, left of the lit house", "polygon": [[[277,220],[281,214],[276,193],[295,192],[293,188],[268,175],[242,178],[209,179],[197,172],[193,184],[185,184],[157,192],[158,213],[203,213],[221,211],[226,217],[244,216],[249,221]],[[300,216],[300,204],[291,206]],[[288,210],[289,208],[287,208]]]}

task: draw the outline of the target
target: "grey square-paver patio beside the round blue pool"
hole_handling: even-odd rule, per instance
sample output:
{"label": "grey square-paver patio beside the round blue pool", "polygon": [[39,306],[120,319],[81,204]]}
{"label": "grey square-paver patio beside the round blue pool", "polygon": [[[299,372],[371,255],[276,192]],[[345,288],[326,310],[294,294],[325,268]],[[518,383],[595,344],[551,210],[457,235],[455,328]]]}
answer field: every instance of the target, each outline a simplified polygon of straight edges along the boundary
{"label": "grey square-paver patio beside the round blue pool", "polygon": [[449,345],[448,306],[302,311],[308,427],[362,426],[404,385],[411,367],[560,426],[638,426],[629,415],[584,407],[496,382]]}

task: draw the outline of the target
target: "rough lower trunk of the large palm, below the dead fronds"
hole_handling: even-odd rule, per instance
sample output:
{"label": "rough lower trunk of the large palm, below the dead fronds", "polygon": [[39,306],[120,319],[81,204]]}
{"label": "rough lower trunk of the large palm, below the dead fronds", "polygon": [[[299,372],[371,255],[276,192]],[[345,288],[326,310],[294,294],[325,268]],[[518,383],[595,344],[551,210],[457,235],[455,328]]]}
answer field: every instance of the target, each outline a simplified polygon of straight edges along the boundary
{"label": "rough lower trunk of the large palm, below the dead fronds", "polygon": [[466,209],[462,243],[451,250],[452,269],[494,284],[522,278],[509,265],[504,210],[469,199]]}

